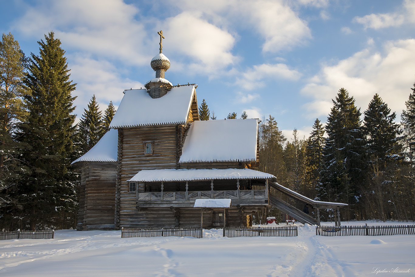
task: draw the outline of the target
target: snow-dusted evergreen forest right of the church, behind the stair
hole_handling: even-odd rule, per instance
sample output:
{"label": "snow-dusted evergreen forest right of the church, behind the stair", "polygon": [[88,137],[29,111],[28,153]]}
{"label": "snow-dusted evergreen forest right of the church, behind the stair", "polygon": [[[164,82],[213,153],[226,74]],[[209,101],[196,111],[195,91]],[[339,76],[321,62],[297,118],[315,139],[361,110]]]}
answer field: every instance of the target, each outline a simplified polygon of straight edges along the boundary
{"label": "snow-dusted evergreen forest right of the church, behind the stair", "polygon": [[[293,140],[288,141],[275,118],[263,118],[259,170],[310,199],[347,203],[341,209],[343,220],[413,221],[415,83],[410,89],[399,124],[395,112],[378,94],[362,114],[344,88],[332,100],[325,127],[317,118],[309,137],[298,137],[294,129]],[[205,100],[199,113],[205,120],[210,118]],[[246,112],[241,116],[247,117]],[[237,114],[229,113],[227,118],[237,118]],[[304,203],[292,204],[303,209]],[[256,216],[262,222],[266,216],[281,216],[271,206],[262,213]],[[333,218],[330,210],[322,211],[321,216],[322,220]]]}

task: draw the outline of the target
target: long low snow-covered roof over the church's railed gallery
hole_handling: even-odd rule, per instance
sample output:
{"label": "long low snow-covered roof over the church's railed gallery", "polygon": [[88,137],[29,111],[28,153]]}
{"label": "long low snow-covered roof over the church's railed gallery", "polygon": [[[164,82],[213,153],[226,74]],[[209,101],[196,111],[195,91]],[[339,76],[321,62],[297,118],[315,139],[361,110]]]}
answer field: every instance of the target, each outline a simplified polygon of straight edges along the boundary
{"label": "long low snow-covered roof over the church's railed gallery", "polygon": [[201,181],[223,179],[270,179],[273,175],[252,169],[149,169],[134,175],[130,182]]}

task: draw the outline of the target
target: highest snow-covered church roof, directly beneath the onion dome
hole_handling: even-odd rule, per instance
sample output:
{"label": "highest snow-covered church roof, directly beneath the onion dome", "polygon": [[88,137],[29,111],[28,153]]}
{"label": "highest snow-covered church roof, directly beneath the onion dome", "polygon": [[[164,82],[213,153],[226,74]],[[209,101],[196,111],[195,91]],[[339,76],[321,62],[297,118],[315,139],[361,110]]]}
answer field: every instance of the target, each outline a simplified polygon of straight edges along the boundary
{"label": "highest snow-covered church roof, directly beneath the onion dome", "polygon": [[125,91],[110,128],[186,123],[194,86],[171,88],[160,98],[151,98],[144,89]]}

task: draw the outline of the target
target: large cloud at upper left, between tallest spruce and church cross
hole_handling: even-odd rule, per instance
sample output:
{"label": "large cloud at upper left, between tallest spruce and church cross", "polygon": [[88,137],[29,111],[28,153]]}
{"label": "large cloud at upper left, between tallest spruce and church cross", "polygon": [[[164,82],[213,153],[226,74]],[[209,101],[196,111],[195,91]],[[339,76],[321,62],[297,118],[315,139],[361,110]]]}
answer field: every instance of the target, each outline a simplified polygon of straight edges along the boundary
{"label": "large cloud at upper left, between tallest spruce and church cross", "polygon": [[146,32],[134,19],[138,13],[121,0],[43,0],[27,9],[15,29],[37,39],[53,30],[66,49],[145,64]]}

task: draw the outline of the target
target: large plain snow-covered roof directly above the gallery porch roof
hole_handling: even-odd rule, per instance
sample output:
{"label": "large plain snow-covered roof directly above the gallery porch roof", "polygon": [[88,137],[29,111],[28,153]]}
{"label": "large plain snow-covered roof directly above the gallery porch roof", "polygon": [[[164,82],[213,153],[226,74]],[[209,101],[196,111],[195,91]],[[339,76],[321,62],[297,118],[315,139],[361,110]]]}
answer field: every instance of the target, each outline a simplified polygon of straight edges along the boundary
{"label": "large plain snow-covered roof directly above the gallery porch roof", "polygon": [[258,120],[194,121],[180,162],[250,162],[256,160]]}

